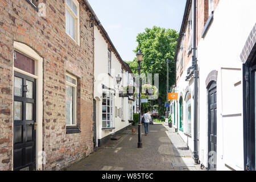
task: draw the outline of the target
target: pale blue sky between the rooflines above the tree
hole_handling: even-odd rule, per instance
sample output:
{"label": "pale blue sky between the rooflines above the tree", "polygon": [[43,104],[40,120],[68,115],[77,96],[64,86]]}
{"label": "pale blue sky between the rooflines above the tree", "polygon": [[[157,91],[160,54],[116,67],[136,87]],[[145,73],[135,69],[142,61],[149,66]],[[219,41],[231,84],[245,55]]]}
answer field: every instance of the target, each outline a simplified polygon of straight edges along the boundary
{"label": "pale blue sky between the rooflines above the tree", "polygon": [[88,0],[125,61],[135,57],[136,36],[145,28],[180,31],[186,0]]}

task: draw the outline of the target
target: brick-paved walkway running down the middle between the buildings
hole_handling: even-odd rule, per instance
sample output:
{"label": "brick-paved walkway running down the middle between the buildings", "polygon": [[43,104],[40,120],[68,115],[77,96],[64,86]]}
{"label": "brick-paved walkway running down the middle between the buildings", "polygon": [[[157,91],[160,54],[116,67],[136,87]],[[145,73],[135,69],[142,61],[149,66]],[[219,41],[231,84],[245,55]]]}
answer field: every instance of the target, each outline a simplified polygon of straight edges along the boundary
{"label": "brick-paved walkway running down the middle between the buildings", "polygon": [[[144,131],[144,127],[142,128]],[[137,129],[138,131],[138,129]],[[200,170],[194,166],[192,152],[174,129],[162,124],[150,125],[143,148],[137,148],[138,133],[124,131],[118,141],[109,141],[68,171],[183,171]]]}

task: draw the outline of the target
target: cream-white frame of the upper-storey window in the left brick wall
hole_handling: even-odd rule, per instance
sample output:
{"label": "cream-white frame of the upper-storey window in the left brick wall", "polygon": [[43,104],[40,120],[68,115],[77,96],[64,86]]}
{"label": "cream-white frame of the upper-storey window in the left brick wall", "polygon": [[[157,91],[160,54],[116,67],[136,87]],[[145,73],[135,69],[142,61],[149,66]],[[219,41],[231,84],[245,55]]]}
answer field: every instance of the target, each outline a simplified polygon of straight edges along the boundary
{"label": "cream-white frame of the upper-storey window in the left brick wall", "polygon": [[67,22],[65,22],[65,31],[68,36],[80,46],[80,5],[77,0],[71,1],[77,6],[77,15],[73,12],[71,7],[69,7],[67,0],[65,0],[65,21],[67,21],[67,11],[69,11],[69,13],[75,18],[75,39],[73,39],[72,36],[67,32]]}

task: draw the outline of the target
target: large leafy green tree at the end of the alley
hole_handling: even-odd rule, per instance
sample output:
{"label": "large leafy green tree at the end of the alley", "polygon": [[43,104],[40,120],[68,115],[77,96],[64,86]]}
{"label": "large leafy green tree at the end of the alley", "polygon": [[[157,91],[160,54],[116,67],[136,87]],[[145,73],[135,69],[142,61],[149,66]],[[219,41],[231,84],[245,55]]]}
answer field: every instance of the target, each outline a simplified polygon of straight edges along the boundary
{"label": "large leafy green tree at the end of the alley", "polygon": [[[159,73],[159,98],[158,101],[154,101],[156,105],[159,105],[159,114],[164,114],[164,102],[166,101],[166,88],[167,88],[167,63],[166,60],[170,60],[169,64],[169,83],[175,84],[175,49],[177,45],[177,39],[179,34],[175,30],[152,27],[146,28],[144,32],[139,33],[137,36],[138,47],[134,50],[137,53],[139,48],[143,52],[142,73]],[[152,64],[152,61],[155,63]],[[138,63],[135,58],[133,61],[127,62],[133,69],[134,73],[138,73]],[[152,76],[154,81],[154,76]],[[170,88],[170,85],[168,86]]]}

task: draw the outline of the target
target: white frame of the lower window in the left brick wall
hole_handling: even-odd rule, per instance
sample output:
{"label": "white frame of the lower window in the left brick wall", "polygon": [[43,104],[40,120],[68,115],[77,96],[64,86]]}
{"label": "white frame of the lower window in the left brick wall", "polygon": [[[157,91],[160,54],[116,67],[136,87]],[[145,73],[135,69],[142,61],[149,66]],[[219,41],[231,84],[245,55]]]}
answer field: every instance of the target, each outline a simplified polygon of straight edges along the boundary
{"label": "white frame of the lower window in the left brick wall", "polygon": [[[74,80],[76,80],[76,84],[73,84],[69,81],[66,80],[66,84],[69,86],[72,86],[73,88],[75,88],[75,93],[73,96],[73,111],[72,111],[72,125],[67,125],[67,121],[66,121],[66,125],[67,126],[77,126],[77,121],[76,121],[76,108],[77,108],[77,102],[76,102],[76,97],[77,97],[77,78],[69,73],[65,73],[65,76],[71,77]],[[67,113],[65,113],[67,114]]]}

